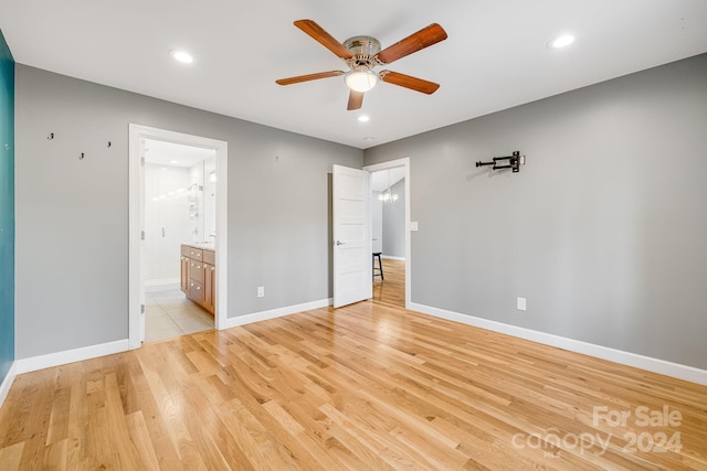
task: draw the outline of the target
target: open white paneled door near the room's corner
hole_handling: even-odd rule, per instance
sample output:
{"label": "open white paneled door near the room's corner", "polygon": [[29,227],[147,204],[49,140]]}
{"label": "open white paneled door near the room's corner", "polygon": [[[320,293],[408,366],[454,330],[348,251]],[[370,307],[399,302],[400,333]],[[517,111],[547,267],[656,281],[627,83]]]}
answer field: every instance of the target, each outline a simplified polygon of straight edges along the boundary
{"label": "open white paneled door near the room's corner", "polygon": [[333,165],[334,307],[370,299],[370,173]]}

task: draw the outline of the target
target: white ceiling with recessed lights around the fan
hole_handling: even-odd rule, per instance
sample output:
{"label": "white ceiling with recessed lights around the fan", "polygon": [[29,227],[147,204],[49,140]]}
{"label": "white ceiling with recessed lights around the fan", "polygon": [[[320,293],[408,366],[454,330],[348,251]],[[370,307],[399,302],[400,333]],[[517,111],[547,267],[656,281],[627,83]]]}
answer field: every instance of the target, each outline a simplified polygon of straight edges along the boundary
{"label": "white ceiling with recessed lights around the fan", "polygon": [[[346,69],[298,19],[382,47],[437,22],[446,41],[387,68],[441,88],[383,83],[347,111],[341,77],[276,85]],[[707,52],[706,24],[705,0],[0,0],[21,64],[361,149]],[[546,47],[563,32],[574,44]]]}

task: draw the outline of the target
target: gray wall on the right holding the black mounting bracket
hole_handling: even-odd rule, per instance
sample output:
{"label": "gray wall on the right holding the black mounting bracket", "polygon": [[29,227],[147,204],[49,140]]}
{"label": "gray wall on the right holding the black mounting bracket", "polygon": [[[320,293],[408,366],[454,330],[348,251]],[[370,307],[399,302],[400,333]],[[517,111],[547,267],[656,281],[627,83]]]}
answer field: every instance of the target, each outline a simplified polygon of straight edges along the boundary
{"label": "gray wall on the right holding the black mounting bracket", "polygon": [[[413,302],[707,368],[706,149],[699,55],[368,149],[366,164],[411,158]],[[474,165],[514,150],[519,173]]]}

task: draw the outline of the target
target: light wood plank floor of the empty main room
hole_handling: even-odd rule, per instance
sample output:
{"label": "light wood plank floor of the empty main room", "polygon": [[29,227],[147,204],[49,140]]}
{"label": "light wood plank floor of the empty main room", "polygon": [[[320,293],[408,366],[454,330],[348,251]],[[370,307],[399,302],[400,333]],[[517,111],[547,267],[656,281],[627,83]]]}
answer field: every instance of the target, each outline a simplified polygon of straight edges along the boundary
{"label": "light wood plank floor of the empty main room", "polygon": [[707,387],[366,301],[19,375],[0,469],[705,470]]}

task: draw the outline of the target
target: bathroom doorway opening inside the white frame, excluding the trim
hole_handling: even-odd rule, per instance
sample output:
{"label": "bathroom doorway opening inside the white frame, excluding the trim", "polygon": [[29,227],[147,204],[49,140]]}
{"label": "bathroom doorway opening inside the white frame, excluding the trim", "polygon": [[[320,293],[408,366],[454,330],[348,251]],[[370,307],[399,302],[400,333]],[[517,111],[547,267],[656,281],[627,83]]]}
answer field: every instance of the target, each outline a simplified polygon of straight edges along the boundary
{"label": "bathroom doorway opening inside the white frame, excluding the trim", "polygon": [[182,271],[201,270],[203,261],[181,261],[182,246],[214,251],[217,156],[215,149],[157,139],[145,139],[144,156],[147,343],[214,327],[213,314],[188,298],[190,289],[203,291],[203,277],[196,288],[187,275],[181,282]]}

